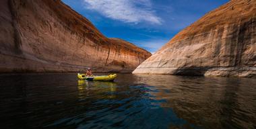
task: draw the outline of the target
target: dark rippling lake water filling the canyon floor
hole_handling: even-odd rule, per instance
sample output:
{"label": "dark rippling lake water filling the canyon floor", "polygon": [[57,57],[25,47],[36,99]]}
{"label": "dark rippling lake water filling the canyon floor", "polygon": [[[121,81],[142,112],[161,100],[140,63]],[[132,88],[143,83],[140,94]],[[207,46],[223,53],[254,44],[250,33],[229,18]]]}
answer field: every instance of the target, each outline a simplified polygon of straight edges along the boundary
{"label": "dark rippling lake water filling the canyon floor", "polygon": [[256,128],[256,80],[0,75],[1,128]]}

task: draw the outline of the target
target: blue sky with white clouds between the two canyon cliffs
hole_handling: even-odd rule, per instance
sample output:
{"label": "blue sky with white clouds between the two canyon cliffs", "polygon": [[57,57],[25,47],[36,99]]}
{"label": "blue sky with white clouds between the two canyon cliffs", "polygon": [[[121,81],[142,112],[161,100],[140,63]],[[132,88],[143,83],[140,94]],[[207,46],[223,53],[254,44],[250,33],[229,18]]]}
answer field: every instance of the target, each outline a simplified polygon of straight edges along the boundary
{"label": "blue sky with white clouds between the two canyon cliffs", "polygon": [[229,0],[62,0],[108,38],[156,52],[175,34]]}

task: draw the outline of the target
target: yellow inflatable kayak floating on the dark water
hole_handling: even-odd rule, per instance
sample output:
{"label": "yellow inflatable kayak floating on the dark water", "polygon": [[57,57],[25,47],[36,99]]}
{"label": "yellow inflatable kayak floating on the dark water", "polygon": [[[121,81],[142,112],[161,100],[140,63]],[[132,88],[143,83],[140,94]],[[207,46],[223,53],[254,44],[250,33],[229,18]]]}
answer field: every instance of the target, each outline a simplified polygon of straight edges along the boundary
{"label": "yellow inflatable kayak floating on the dark water", "polygon": [[85,74],[77,73],[77,77],[80,80],[87,80],[87,81],[114,81],[117,78],[117,74],[88,77]]}

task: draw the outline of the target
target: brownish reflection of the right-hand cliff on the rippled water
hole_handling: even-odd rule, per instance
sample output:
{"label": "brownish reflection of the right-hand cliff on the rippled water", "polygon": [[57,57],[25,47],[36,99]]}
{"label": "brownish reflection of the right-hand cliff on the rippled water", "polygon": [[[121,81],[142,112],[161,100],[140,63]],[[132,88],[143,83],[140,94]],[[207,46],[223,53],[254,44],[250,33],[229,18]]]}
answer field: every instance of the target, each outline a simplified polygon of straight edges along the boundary
{"label": "brownish reflection of the right-hand cliff on the rippled water", "polygon": [[255,128],[256,81],[224,77],[137,75],[138,82],[158,89],[161,107],[204,128]]}

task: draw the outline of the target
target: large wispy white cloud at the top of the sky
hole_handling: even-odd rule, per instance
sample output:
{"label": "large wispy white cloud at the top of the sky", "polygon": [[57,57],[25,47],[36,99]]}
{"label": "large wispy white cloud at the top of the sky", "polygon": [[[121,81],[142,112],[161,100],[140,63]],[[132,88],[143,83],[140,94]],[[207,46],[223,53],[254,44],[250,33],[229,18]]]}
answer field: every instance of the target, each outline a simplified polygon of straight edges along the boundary
{"label": "large wispy white cloud at the top of the sky", "polygon": [[84,0],[84,3],[87,9],[122,22],[162,24],[162,19],[155,14],[150,0]]}

